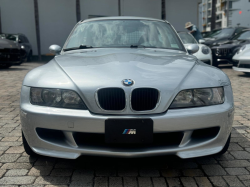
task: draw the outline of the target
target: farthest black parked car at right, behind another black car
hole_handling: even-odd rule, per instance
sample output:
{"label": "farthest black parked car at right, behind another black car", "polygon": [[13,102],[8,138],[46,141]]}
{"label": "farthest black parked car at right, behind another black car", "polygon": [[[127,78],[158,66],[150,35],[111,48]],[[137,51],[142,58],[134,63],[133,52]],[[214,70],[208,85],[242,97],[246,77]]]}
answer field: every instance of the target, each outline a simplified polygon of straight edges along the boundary
{"label": "farthest black parked car at right, behind another black car", "polygon": [[247,29],[246,27],[228,27],[225,29],[217,30],[216,32],[209,35],[209,37],[205,38],[203,44],[211,47],[213,45],[218,44],[219,42],[223,42],[231,39],[235,35],[239,34],[242,30]]}

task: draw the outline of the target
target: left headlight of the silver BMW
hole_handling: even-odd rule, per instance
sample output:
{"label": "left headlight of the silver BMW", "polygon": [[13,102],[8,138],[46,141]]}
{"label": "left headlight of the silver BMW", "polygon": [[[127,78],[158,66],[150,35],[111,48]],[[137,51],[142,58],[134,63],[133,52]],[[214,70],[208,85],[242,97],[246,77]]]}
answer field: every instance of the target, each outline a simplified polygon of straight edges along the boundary
{"label": "left headlight of the silver BMW", "polygon": [[31,88],[30,102],[40,106],[87,110],[79,95],[71,90]]}

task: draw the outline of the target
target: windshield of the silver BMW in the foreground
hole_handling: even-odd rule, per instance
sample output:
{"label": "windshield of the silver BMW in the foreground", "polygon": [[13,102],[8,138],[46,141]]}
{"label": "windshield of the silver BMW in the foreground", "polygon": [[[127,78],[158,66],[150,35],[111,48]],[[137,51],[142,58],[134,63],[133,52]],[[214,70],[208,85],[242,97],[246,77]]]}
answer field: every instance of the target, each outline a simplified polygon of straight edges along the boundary
{"label": "windshield of the silver BMW in the foreground", "polygon": [[149,20],[101,20],[82,23],[73,31],[65,49],[79,46],[108,48],[132,45],[185,51],[169,24]]}

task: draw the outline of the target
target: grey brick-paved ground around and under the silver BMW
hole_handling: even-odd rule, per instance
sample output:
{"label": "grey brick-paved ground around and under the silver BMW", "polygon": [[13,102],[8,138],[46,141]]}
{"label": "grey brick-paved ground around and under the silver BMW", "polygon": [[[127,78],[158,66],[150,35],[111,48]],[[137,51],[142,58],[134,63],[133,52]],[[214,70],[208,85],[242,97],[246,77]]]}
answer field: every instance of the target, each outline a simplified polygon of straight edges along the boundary
{"label": "grey brick-paved ground around and under the silver BMW", "polygon": [[236,107],[230,149],[223,156],[65,160],[29,157],[22,147],[21,83],[39,65],[0,70],[0,186],[250,186],[250,76],[222,68],[231,79]]}

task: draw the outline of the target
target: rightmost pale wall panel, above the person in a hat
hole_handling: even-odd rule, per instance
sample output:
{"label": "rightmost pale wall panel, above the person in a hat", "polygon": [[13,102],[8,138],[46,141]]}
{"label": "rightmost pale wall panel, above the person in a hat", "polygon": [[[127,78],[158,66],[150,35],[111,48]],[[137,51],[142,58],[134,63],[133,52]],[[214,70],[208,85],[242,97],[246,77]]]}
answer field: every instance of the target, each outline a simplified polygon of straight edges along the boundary
{"label": "rightmost pale wall panel, above the person in a hat", "polygon": [[186,31],[185,23],[189,21],[198,27],[198,2],[198,0],[166,0],[166,20],[177,31]]}

